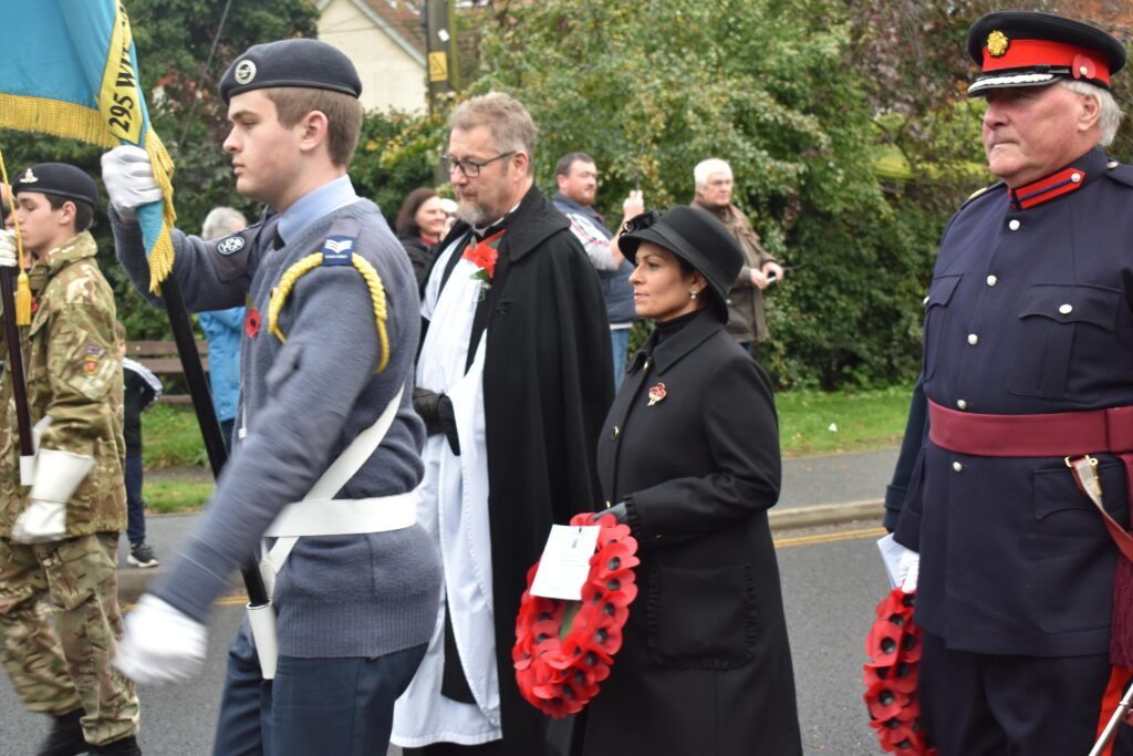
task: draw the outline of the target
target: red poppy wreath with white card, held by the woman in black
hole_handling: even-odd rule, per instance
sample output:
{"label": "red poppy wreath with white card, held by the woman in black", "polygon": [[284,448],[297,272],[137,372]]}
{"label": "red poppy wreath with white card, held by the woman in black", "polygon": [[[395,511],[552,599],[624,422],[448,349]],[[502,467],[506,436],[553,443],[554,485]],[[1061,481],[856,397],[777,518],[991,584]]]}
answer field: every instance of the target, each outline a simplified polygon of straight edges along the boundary
{"label": "red poppy wreath with white card, held by the woman in black", "polygon": [[[591,517],[576,515],[570,524],[595,525]],[[619,525],[613,515],[602,516],[597,525],[602,530],[582,600],[533,596],[536,562],[527,571],[527,591],[516,618],[511,657],[519,691],[555,717],[577,714],[598,694],[598,683],[610,677],[614,654],[622,647],[622,627],[637,597],[633,568],[640,560],[629,526]]]}

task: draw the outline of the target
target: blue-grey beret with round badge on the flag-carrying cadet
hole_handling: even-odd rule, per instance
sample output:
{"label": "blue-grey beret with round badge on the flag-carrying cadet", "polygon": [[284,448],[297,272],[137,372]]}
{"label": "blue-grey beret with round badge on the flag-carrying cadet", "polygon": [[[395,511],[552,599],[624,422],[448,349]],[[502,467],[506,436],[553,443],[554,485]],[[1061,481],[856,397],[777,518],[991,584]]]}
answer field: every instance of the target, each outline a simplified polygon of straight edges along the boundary
{"label": "blue-grey beret with round badge on the flag-carrying cadet", "polygon": [[247,49],[220,79],[224,104],[253,90],[298,87],[361,94],[361,79],[350,58],[318,40],[280,40]]}

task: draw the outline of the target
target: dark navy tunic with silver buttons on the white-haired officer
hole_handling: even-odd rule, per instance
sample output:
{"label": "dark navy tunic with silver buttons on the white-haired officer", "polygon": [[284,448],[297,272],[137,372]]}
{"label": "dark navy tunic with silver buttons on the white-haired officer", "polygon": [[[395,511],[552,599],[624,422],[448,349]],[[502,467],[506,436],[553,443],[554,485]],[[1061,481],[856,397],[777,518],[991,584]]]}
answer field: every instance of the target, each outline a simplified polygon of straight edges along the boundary
{"label": "dark navy tunic with silver buttons on the white-haired officer", "polygon": [[[948,224],[927,301],[929,400],[1007,415],[1133,405],[1133,169],[1097,150],[1072,167],[1025,210],[997,185]],[[1126,524],[1125,469],[1097,457]],[[896,537],[921,553],[917,620],[949,648],[1108,651],[1117,549],[1060,457],[929,442]]]}

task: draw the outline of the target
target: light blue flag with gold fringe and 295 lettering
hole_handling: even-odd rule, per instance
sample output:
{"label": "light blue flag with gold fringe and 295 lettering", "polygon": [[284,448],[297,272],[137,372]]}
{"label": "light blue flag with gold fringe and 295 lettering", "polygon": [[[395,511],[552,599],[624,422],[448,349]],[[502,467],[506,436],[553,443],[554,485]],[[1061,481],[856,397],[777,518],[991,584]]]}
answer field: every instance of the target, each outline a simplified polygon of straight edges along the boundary
{"label": "light blue flag with gold fringe and 295 lettering", "polygon": [[0,20],[0,127],[150,155],[161,202],[138,209],[156,291],[173,265],[173,161],[150,128],[137,53],[120,0],[6,3]]}

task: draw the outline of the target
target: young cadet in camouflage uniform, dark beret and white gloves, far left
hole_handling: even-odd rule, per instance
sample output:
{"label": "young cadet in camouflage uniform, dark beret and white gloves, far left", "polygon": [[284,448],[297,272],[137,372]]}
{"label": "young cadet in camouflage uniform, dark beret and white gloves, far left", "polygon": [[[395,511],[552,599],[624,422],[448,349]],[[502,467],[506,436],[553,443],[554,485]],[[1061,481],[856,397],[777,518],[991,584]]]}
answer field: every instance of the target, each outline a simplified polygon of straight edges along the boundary
{"label": "young cadet in camouflage uniform, dark beret and white gloves, far left", "polygon": [[[110,663],[122,629],[114,569],[126,528],[126,444],[114,298],[86,230],[99,192],[65,163],[33,165],[12,190],[23,252],[33,262],[33,315],[20,337],[39,452],[34,476],[22,481],[15,400],[5,380],[3,663],[24,705],[56,717],[40,754],[139,754],[134,683]],[[16,267],[19,252],[15,233],[0,231],[0,264]],[[41,611],[44,597],[58,612],[58,634]]]}

